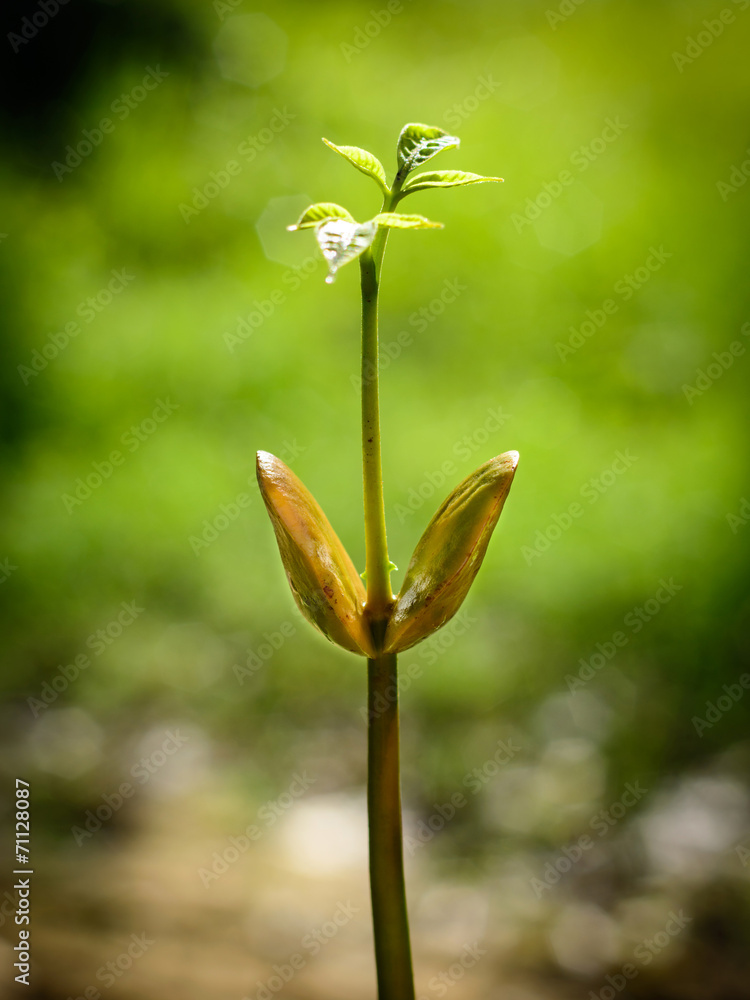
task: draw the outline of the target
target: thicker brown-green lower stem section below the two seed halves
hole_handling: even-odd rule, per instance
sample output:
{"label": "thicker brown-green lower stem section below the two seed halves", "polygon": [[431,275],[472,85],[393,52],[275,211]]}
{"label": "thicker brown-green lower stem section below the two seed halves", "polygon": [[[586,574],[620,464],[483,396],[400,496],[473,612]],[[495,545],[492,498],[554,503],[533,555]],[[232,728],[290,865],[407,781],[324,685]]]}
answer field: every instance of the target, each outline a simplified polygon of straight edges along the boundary
{"label": "thicker brown-green lower stem section below the two seed halves", "polygon": [[395,654],[368,660],[367,809],[379,1000],[414,1000],[401,839]]}

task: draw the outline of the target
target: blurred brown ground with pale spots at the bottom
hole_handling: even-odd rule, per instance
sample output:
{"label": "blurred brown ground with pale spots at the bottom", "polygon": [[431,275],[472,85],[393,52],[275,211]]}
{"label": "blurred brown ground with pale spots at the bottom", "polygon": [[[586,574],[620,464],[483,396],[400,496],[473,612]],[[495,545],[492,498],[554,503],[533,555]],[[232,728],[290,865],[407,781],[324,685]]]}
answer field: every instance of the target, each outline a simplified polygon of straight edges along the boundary
{"label": "blurred brown ground with pale spots at the bottom", "polygon": [[[238,808],[217,777],[176,791],[162,775],[150,800],[96,833],[78,828],[80,847],[43,856],[33,996],[85,995],[93,984],[165,1000],[267,997],[282,986],[311,1000],[374,997],[361,793],[270,800],[273,834],[250,843],[248,818],[264,806]],[[485,789],[504,804],[501,790]],[[747,797],[704,774],[655,798],[619,831],[616,803],[597,810],[607,833],[593,827],[593,846],[551,855],[511,834],[472,864],[429,856],[430,843],[437,852],[450,839],[446,803],[427,818],[443,818],[431,837],[407,817],[419,995],[575,997],[585,987],[607,997],[625,985],[634,996],[744,995],[747,877],[735,839]]]}

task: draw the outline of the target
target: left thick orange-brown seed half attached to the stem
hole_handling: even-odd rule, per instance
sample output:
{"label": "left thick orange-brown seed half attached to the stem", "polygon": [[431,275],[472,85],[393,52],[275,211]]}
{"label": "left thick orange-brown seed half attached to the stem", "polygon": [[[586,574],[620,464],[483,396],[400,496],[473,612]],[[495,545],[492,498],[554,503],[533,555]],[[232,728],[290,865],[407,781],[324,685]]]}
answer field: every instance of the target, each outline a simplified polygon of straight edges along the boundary
{"label": "left thick orange-brown seed half attached to the stem", "polygon": [[375,656],[365,588],[319,504],[275,455],[259,451],[257,472],[297,607],[331,642]]}

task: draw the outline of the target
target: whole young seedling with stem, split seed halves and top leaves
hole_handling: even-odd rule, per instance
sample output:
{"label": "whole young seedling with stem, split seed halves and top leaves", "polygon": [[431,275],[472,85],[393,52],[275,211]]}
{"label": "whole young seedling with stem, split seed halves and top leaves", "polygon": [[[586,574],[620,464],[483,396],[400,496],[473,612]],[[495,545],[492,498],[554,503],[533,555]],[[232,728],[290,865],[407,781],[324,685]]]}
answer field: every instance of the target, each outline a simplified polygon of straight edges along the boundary
{"label": "whole young seedling with stem, split seed halves and top leaves", "polygon": [[289,228],[314,229],[328,263],[326,281],[359,258],[362,289],[362,453],[365,572],[362,583],[344,546],[312,494],[280,459],[258,452],[258,482],[273,523],[292,594],[323,635],[368,664],[368,778],[370,888],[380,1000],[413,1000],[414,980],[404,889],[399,779],[397,654],[415,646],[458,611],[484,559],[508,495],[518,453],[481,465],[444,501],[419,540],[398,595],[388,557],[380,457],[378,293],[389,229],[439,229],[421,215],[396,212],[404,198],[430,188],[463,187],[499,177],[463,170],[413,174],[456,136],[421,124],[404,126],[393,183],[381,162],[357,146],[323,142],[383,194],[378,215],[356,222],[332,202],[311,205]]}

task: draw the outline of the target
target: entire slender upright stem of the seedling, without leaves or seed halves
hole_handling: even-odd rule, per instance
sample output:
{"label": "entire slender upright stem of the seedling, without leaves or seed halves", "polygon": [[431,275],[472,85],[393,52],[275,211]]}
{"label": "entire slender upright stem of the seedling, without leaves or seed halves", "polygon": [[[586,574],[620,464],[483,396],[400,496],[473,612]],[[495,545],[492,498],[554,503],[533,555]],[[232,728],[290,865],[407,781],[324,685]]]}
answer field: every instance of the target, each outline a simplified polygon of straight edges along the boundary
{"label": "entire slender upright stem of the seedling, without leaves or seed halves", "polygon": [[[394,184],[383,202],[399,200]],[[365,499],[367,604],[376,648],[382,648],[393,605],[391,562],[385,530],[380,457],[378,292],[388,230],[382,228],[360,257],[362,287],[362,458]],[[395,654],[368,665],[367,813],[370,828],[370,892],[379,1000],[414,1000],[414,975],[404,885],[399,774],[398,669]]]}

